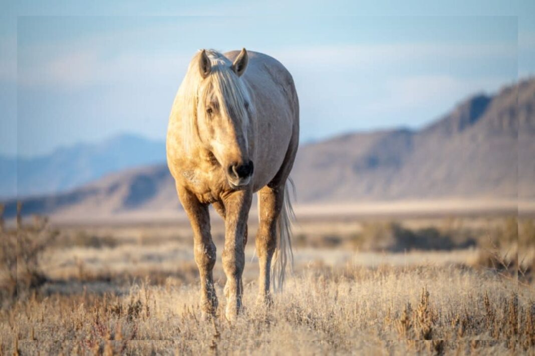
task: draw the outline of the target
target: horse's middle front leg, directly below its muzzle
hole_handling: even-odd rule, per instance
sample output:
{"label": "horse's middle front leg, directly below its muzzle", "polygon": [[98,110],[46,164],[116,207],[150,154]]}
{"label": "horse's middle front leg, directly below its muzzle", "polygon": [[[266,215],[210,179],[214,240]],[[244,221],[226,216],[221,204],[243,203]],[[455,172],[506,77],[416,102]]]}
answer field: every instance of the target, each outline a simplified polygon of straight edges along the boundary
{"label": "horse's middle front leg, directly below its muzzle", "polygon": [[245,264],[244,243],[247,241],[247,219],[251,207],[251,197],[252,193],[246,190],[233,192],[223,199],[225,204],[223,270],[227,276],[225,314],[228,320],[234,320],[241,310],[243,293],[241,276]]}

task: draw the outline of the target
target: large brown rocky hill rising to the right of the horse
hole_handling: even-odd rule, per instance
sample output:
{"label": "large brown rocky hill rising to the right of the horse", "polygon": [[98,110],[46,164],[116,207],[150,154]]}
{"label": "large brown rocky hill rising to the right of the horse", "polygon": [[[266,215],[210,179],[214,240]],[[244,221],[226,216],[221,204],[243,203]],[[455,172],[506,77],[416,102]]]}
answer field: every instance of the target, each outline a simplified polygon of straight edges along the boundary
{"label": "large brown rocky hill rising to the right of the horse", "polygon": [[300,200],[533,198],[534,105],[535,80],[524,81],[494,97],[469,98],[422,130],[304,147],[293,170]]}

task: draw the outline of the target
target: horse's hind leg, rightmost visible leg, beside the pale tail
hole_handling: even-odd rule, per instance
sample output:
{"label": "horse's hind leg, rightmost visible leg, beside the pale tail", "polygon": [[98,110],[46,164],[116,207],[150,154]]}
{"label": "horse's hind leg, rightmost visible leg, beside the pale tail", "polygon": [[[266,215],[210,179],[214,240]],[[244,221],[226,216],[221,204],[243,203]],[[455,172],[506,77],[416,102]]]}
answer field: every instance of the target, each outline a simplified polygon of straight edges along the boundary
{"label": "horse's hind leg, rightmost visible leg, beside the pale tail", "polygon": [[271,303],[270,270],[273,252],[277,247],[277,219],[284,201],[284,187],[265,186],[258,192],[260,223],[256,234],[256,254],[260,275],[258,278],[258,303]]}

